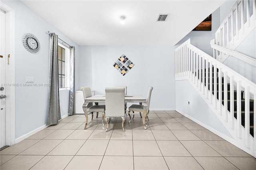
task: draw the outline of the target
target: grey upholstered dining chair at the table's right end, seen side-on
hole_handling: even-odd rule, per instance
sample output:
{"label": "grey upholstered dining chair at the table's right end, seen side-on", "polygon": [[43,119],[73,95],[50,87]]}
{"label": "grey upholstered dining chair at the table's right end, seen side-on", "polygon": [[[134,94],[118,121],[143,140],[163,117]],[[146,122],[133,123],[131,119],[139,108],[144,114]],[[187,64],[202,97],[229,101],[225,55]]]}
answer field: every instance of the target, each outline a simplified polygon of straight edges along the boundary
{"label": "grey upholstered dining chair at the table's right end, seen side-on", "polygon": [[[131,115],[130,112],[132,111],[133,113],[133,117],[134,118],[134,111],[138,111],[138,112],[143,112],[143,125],[146,124],[147,125],[147,120],[148,119],[148,113],[149,113],[149,105],[150,105],[150,98],[151,98],[151,93],[152,93],[153,87],[150,87],[148,89],[148,97],[146,99],[146,102],[141,103],[140,105],[138,104],[133,104],[132,106],[129,107],[129,111],[128,111],[128,115],[130,117],[130,121],[131,121]],[[141,117],[141,115],[140,115]],[[149,120],[149,119],[148,119]],[[130,121],[128,123],[130,123]],[[144,128],[146,129],[146,127],[144,126]]]}

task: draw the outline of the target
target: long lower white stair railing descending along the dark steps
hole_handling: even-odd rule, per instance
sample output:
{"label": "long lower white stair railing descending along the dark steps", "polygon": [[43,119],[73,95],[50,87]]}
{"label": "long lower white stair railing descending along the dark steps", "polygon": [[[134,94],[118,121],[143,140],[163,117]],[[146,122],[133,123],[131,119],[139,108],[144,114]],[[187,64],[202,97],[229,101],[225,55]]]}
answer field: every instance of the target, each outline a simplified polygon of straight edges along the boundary
{"label": "long lower white stair railing descending along the dark steps", "polygon": [[[233,134],[234,139],[237,138],[240,149],[256,157],[255,83],[190,44],[190,39],[175,50],[175,78],[176,80],[190,80],[200,91],[201,96],[204,96],[208,105],[214,107],[214,113],[218,115],[230,134]],[[228,86],[230,86],[229,90]],[[222,90],[224,91],[223,99]],[[230,91],[230,99],[228,99],[228,91]],[[234,91],[236,91],[236,96],[234,96]],[[242,99],[242,91],[245,93],[244,99]],[[250,117],[250,104],[252,103],[250,98],[254,99],[254,118]],[[241,105],[242,101],[244,101],[244,106]],[[234,107],[234,102],[236,107]],[[244,117],[241,116],[242,107],[245,110]],[[236,118],[234,110],[236,110]],[[245,119],[244,126],[242,126],[242,118]],[[252,121],[254,124],[250,126]]]}

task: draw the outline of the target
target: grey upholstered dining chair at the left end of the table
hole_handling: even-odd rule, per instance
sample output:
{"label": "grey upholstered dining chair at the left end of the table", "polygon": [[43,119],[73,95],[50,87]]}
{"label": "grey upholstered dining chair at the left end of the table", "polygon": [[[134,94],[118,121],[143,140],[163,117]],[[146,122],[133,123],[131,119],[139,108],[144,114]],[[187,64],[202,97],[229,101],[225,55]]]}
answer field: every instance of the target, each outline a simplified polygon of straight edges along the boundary
{"label": "grey upholstered dining chair at the left end of the table", "polygon": [[[81,90],[83,91],[84,99],[92,96],[90,87],[82,87]],[[93,105],[92,102],[89,102],[89,103],[84,102],[82,107],[84,110],[84,115],[86,117],[86,123],[85,123],[84,129],[86,129],[86,126],[88,124],[88,114],[86,114],[86,112],[92,113],[92,119],[93,119],[93,112],[97,112],[96,117],[98,117],[98,112],[102,112],[102,124],[104,126],[105,105]]]}

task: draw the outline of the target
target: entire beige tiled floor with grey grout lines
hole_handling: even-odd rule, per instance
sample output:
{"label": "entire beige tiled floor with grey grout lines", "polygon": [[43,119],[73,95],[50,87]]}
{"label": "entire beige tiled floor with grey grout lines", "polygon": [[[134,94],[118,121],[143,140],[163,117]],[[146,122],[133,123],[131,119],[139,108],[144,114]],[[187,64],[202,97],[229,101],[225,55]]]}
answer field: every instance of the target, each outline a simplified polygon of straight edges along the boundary
{"label": "entire beige tiled floor with grey grout lines", "polygon": [[150,111],[144,130],[137,113],[128,124],[73,115],[0,152],[1,170],[256,170],[256,158],[176,111]]}

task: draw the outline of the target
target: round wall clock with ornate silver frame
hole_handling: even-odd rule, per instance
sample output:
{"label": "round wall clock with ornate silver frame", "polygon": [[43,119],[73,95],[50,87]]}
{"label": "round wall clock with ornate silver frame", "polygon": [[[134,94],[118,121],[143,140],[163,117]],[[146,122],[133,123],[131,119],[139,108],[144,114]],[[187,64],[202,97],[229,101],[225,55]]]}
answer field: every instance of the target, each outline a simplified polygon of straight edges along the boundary
{"label": "round wall clock with ornate silver frame", "polygon": [[31,33],[26,33],[23,35],[22,43],[25,49],[32,53],[37,54],[40,51],[40,43],[39,40]]}

